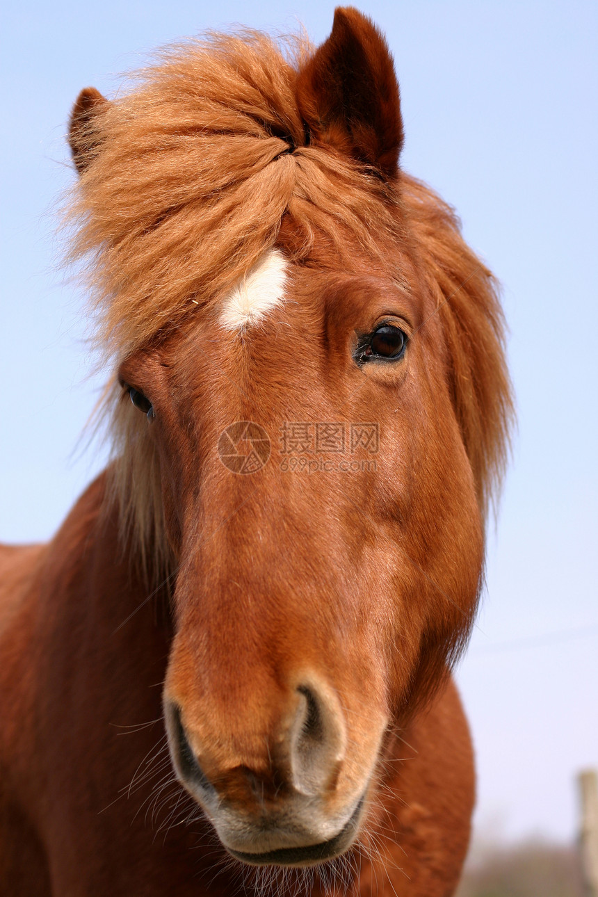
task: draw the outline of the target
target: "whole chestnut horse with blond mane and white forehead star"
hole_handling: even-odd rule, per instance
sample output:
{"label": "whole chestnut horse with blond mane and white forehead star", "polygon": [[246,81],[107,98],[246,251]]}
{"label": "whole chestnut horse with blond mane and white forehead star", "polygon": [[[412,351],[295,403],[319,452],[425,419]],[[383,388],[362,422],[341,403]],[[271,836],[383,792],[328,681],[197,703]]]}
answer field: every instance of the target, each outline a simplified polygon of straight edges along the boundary
{"label": "whole chestnut horse with blond mane and white forehead star", "polygon": [[512,404],[386,39],[191,39],[69,141],[113,450],[0,550],[4,893],[455,893]]}

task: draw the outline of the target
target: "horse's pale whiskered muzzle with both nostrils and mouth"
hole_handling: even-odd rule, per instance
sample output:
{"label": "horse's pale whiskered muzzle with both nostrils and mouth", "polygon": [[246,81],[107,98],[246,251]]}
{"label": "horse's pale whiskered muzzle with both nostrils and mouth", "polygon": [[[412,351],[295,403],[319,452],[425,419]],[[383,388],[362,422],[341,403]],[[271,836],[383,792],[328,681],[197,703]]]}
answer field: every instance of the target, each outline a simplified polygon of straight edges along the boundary
{"label": "horse's pale whiskered muzzle with both nostrils and mouth", "polygon": [[293,690],[275,736],[260,739],[264,758],[247,751],[215,760],[178,702],[165,700],[165,717],[178,779],[233,857],[255,866],[309,866],[351,847],[370,770],[344,780],[347,729],[326,684],[312,678]]}

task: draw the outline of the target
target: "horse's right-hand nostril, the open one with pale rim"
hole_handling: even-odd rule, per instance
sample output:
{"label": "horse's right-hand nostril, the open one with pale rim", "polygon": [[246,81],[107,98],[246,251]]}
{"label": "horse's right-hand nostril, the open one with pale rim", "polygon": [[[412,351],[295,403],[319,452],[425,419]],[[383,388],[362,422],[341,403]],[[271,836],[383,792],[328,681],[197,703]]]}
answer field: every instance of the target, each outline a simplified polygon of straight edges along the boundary
{"label": "horse's right-hand nostril, the open one with pale rim", "polygon": [[295,788],[314,795],[333,788],[344,756],[346,733],[334,692],[318,685],[299,685],[299,708],[291,731],[290,766]]}

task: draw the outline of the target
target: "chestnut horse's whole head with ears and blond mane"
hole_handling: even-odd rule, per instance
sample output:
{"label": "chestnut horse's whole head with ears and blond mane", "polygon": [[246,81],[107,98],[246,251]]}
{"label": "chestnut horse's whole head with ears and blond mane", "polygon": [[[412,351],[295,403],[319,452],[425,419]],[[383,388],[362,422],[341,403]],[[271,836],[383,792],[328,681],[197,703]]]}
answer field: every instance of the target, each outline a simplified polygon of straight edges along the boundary
{"label": "chestnut horse's whole head with ears and blond mane", "polygon": [[173,584],[172,762],[248,863],[351,845],[479,594],[500,311],[402,143],[352,9],[294,62],[195,42],[72,117],[124,539]]}

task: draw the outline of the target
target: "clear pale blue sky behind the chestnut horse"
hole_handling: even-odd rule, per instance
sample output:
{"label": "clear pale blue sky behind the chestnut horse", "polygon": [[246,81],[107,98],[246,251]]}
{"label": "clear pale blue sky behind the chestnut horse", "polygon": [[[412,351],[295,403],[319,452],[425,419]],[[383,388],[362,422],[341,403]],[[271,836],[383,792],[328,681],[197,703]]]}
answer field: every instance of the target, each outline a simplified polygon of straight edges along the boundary
{"label": "clear pale blue sky behind the chestnut horse", "polygon": [[[478,823],[575,832],[598,764],[598,6],[368,2],[403,95],[403,166],[456,206],[504,287],[519,431],[488,588],[459,682]],[[217,9],[217,13],[214,12]],[[57,272],[77,92],[108,95],[152,48],[241,22],[316,41],[334,4],[11,4],[2,50],[0,538],[45,539],[105,458],[80,435],[102,383],[82,296]]]}

